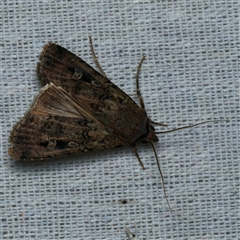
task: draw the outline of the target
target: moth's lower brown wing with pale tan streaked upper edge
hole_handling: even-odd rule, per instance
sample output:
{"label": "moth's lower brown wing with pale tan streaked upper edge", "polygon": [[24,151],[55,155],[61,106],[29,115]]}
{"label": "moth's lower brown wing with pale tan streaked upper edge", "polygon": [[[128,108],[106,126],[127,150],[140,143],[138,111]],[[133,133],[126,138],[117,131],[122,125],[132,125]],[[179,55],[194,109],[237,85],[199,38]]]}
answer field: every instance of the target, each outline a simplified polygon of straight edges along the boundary
{"label": "moth's lower brown wing with pale tan streaked upper edge", "polygon": [[30,110],[14,126],[9,154],[15,159],[44,159],[123,145],[61,87],[42,88]]}

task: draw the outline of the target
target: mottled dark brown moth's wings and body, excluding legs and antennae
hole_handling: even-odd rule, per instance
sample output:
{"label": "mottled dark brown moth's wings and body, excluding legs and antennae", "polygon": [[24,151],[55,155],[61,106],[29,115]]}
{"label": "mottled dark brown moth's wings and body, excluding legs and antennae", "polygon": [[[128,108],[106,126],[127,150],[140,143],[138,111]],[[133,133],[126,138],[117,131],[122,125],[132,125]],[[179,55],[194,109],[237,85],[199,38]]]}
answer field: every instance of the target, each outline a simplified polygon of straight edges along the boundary
{"label": "mottled dark brown moth's wings and body, excluding legs and antennae", "polygon": [[44,87],[13,127],[13,158],[45,159],[158,141],[144,107],[81,58],[49,43],[39,59],[37,75]]}

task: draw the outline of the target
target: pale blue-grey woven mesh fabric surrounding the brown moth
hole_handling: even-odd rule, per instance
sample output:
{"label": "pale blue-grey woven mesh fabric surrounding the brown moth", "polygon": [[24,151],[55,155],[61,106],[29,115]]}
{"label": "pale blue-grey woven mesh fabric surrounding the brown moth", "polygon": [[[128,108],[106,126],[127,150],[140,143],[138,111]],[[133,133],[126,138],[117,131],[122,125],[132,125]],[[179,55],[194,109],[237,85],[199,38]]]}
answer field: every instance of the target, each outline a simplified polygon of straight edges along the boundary
{"label": "pale blue-grey woven mesh fabric surrounding the brown moth", "polygon": [[[1,239],[240,239],[239,1],[0,2]],[[159,135],[172,215],[151,146],[20,162],[8,156],[13,125],[41,86],[36,64],[55,42],[95,67],[168,129]],[[166,128],[157,127],[158,131]],[[135,229],[136,226],[136,229]]]}

